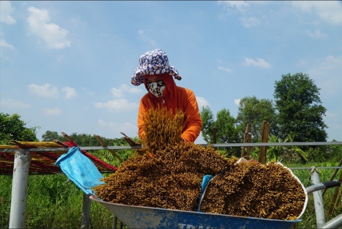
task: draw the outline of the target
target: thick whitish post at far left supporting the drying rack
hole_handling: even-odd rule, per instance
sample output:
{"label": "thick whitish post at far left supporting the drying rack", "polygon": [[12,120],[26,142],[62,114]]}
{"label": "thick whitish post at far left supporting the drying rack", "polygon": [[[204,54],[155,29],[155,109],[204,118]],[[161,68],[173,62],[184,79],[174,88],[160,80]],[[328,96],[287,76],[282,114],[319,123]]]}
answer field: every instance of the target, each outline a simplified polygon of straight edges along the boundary
{"label": "thick whitish post at far left supporting the drying rack", "polygon": [[24,228],[31,153],[19,149],[14,158],[9,228]]}

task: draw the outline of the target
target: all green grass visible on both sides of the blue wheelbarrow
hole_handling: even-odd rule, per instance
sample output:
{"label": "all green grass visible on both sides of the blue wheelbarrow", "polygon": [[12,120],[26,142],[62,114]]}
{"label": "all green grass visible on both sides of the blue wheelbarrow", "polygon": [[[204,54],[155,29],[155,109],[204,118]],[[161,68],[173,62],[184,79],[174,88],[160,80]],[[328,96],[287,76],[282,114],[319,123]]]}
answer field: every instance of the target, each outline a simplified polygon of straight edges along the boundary
{"label": "all green grass visible on both sides of the blue wheelbarrow", "polygon": [[[293,167],[311,166],[337,166],[337,162],[313,163],[313,164],[286,164]],[[333,169],[319,170],[320,180],[328,181]],[[305,187],[312,185],[310,170],[293,170]],[[338,180],[339,171],[335,180]],[[9,228],[12,176],[0,176],[0,228]],[[326,221],[342,213],[342,201],[338,203],[335,211],[329,215],[334,189],[328,189],[323,196],[326,210]],[[340,188],[339,193],[342,192]],[[29,176],[26,223],[25,228],[79,228],[81,223],[83,194],[75,184],[65,175],[32,175]],[[92,201],[90,228],[112,228],[114,216],[101,204]],[[302,221],[296,224],[296,228],[316,228],[315,212],[312,194]]]}

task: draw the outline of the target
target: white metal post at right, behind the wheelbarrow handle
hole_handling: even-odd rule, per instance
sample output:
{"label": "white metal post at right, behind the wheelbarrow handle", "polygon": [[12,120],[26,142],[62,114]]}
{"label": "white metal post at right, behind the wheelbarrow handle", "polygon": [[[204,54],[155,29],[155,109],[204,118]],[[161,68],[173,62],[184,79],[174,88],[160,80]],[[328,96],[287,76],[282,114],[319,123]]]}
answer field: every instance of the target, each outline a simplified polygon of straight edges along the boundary
{"label": "white metal post at right, behind the wheelbarrow handle", "polygon": [[[315,167],[311,167],[311,180],[314,185],[320,183],[319,173],[315,169]],[[316,213],[316,226],[317,228],[321,228],[322,225],[325,223],[322,191],[321,190],[314,191],[312,195],[313,195],[313,202],[314,202],[315,213]]]}

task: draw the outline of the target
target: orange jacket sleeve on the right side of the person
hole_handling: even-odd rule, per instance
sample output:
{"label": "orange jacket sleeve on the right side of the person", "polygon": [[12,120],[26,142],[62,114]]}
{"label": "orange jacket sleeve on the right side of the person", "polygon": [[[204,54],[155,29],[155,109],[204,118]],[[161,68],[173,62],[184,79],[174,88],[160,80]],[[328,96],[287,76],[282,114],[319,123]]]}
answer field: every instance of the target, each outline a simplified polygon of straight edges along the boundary
{"label": "orange jacket sleeve on the right side of the person", "polygon": [[196,96],[193,91],[187,90],[187,99],[185,114],[187,116],[187,128],[182,133],[186,142],[194,142],[200,135],[202,129],[202,118],[198,108]]}

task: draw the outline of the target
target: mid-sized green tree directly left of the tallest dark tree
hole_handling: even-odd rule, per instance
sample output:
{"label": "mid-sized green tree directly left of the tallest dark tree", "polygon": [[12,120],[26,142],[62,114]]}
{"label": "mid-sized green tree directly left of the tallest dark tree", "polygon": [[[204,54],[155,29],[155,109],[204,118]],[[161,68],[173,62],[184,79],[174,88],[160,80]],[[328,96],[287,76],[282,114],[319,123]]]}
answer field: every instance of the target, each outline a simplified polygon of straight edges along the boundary
{"label": "mid-sized green tree directly left of the tallest dark tree", "polygon": [[269,134],[278,134],[277,114],[272,100],[259,100],[255,96],[242,98],[236,120],[241,141],[247,124],[250,125],[249,132],[252,134],[252,142],[261,140],[263,121],[270,123]]}

